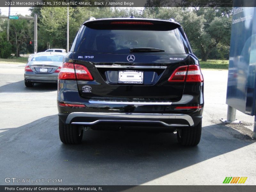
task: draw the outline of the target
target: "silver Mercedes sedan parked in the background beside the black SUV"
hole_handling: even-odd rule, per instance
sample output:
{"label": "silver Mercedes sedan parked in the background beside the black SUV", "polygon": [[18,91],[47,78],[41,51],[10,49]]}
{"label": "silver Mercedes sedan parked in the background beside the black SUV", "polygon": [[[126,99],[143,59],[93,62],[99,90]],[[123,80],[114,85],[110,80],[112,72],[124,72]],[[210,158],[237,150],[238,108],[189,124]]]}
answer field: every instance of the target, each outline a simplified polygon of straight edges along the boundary
{"label": "silver Mercedes sedan parked in the background beside the black SUV", "polygon": [[57,83],[58,75],[67,53],[46,52],[35,54],[25,66],[24,81],[27,87],[34,83]]}

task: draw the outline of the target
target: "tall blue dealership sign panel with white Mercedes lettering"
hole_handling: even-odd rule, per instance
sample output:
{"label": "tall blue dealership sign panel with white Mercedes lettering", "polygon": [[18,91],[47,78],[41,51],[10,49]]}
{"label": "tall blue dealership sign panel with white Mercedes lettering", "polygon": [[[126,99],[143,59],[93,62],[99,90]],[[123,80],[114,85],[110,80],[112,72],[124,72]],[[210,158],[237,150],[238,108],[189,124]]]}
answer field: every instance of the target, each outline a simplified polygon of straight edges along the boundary
{"label": "tall blue dealership sign panel with white Mercedes lettering", "polygon": [[[248,2],[248,1],[247,1]],[[226,103],[254,116],[256,105],[256,0],[234,0]]]}

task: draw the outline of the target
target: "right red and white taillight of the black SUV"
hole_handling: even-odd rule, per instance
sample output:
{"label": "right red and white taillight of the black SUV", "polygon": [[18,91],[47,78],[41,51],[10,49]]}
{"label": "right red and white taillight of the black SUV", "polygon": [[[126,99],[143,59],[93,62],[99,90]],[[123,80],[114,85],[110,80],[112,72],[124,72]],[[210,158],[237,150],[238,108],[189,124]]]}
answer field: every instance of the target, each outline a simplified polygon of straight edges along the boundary
{"label": "right red and white taillight of the black SUV", "polygon": [[[188,70],[188,74],[186,75]],[[178,67],[168,79],[169,82],[204,82],[203,75],[198,65]]]}

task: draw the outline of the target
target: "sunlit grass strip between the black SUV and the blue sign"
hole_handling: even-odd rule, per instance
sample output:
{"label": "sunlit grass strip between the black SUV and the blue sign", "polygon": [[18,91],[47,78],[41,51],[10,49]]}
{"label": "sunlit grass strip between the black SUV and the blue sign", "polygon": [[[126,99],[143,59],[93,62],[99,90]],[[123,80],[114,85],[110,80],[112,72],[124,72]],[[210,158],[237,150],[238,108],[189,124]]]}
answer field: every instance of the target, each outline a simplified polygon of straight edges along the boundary
{"label": "sunlit grass strip between the black SUV and the blue sign", "polygon": [[202,69],[228,69],[228,60],[199,61]]}

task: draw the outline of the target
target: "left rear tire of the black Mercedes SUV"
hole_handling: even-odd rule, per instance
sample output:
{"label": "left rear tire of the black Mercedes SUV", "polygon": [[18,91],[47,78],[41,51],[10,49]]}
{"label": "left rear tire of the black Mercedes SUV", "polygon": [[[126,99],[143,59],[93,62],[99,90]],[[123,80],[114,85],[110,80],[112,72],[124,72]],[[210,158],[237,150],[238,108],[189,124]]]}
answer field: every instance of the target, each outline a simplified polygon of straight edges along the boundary
{"label": "left rear tire of the black Mercedes SUV", "polygon": [[79,144],[82,141],[84,130],[77,125],[65,124],[59,118],[60,140],[65,144]]}

